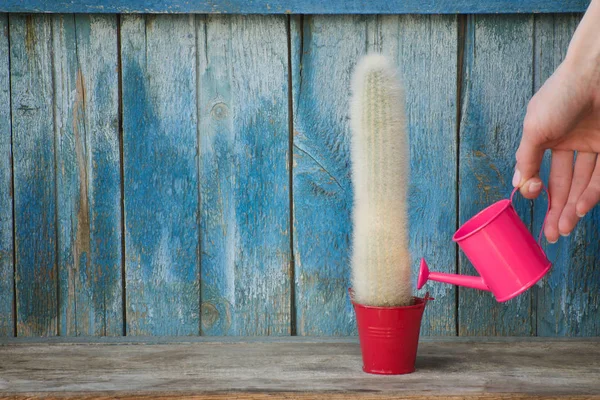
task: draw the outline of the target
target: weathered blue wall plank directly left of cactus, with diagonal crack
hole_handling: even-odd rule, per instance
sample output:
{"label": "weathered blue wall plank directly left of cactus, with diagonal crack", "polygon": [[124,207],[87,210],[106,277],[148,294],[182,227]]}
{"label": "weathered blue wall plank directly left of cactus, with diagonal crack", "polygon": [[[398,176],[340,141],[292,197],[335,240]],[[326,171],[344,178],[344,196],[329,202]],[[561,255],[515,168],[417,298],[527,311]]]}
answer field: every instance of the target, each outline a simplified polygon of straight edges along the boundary
{"label": "weathered blue wall plank directly left of cactus, with diagonal crack", "polygon": [[374,17],[292,18],[293,224],[299,335],[356,332],[348,298],[350,79]]}

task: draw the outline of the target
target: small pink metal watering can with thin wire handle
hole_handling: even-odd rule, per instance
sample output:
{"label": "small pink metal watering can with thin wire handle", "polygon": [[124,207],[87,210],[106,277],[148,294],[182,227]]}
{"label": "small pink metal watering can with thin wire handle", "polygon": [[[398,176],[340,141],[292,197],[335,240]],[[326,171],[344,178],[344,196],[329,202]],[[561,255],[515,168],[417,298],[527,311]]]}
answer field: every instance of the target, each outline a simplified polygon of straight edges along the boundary
{"label": "small pink metal watering can with thin wire handle", "polygon": [[[539,244],[544,226],[536,242],[517,215],[512,202],[516,191],[510,200],[500,200],[468,220],[452,237],[480,276],[429,272],[422,259],[417,288],[433,280],[490,291],[504,302],[535,285],[552,263]],[[549,211],[550,194],[546,194]]]}

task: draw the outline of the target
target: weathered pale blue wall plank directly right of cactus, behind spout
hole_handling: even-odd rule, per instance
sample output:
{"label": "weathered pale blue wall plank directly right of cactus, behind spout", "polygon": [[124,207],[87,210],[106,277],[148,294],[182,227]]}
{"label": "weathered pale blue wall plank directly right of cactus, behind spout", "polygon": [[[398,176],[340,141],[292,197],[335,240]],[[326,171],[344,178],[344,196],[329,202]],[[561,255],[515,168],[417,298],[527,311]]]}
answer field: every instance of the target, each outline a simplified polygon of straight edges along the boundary
{"label": "weathered pale blue wall plank directly right of cactus, behind spout", "polygon": [[[371,30],[370,30],[371,31]],[[397,61],[410,132],[410,249],[413,278],[425,257],[432,268],[456,273],[452,235],[457,226],[457,19],[389,16],[377,20],[369,49]],[[456,288],[432,283],[424,335],[456,334]]]}

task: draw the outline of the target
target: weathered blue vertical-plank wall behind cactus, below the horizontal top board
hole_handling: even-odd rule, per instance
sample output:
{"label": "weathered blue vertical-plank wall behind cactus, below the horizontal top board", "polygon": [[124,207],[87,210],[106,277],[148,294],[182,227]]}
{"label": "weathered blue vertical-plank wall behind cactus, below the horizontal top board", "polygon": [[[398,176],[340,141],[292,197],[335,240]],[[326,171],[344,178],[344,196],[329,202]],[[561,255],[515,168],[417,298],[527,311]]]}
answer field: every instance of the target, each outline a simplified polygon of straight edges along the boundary
{"label": "weathered blue vertical-plank wall behind cactus, below the horizontal top board", "polygon": [[[348,86],[368,51],[406,85],[414,259],[474,273],[452,233],[509,195],[579,19],[1,14],[0,336],[355,334]],[[543,201],[518,209],[538,230]],[[423,334],[600,335],[599,229],[595,210],[505,304],[429,285]]]}

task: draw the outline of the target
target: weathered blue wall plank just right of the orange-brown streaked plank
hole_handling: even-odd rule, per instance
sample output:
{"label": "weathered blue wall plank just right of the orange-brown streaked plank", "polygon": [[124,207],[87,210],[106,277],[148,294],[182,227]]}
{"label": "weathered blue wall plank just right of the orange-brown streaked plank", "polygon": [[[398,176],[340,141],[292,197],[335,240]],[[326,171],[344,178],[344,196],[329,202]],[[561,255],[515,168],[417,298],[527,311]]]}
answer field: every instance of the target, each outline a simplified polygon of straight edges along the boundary
{"label": "weathered blue wall plank just right of the orange-brown streaked plank", "polygon": [[193,16],[121,26],[127,334],[198,334]]}

